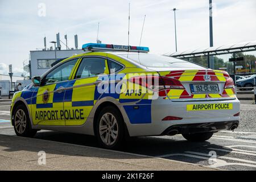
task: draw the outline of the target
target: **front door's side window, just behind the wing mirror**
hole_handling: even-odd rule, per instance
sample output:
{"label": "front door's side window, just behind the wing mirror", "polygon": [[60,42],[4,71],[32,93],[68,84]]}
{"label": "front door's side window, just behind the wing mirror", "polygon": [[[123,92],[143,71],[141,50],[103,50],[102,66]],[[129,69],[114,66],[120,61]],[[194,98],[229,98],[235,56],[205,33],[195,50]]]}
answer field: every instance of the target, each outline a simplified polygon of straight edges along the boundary
{"label": "front door's side window, just behind the wing mirror", "polygon": [[59,67],[53,69],[53,71],[49,72],[46,77],[44,77],[42,85],[52,84],[55,82],[66,81],[71,75],[72,69],[75,66],[78,59],[73,59],[67,61]]}

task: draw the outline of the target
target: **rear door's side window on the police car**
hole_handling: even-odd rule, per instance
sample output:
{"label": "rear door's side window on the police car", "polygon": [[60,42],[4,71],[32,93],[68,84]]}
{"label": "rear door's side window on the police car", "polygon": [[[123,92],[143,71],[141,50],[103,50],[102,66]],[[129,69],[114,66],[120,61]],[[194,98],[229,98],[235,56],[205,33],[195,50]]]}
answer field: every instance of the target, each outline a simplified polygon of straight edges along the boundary
{"label": "rear door's side window on the police car", "polygon": [[84,57],[77,70],[75,78],[86,78],[105,72],[105,59],[102,57]]}

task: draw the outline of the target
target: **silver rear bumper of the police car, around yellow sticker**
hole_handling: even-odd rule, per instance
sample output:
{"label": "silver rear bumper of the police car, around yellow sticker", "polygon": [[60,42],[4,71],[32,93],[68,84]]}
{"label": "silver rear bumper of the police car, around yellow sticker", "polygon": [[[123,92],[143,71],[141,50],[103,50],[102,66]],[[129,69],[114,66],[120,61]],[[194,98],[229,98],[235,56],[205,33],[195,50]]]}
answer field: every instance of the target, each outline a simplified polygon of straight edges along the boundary
{"label": "silver rear bumper of the police car, around yellow sticker", "polygon": [[[189,111],[187,105],[191,104],[232,104],[233,109]],[[151,112],[148,111],[149,109],[151,109]],[[129,121],[126,122],[131,137],[163,135],[166,134],[167,130],[175,127],[179,127],[179,133],[229,130],[233,123],[238,124],[240,121],[240,117],[235,116],[240,112],[240,101],[237,98],[233,100],[193,102],[173,102],[159,98],[148,105],[148,110],[139,113],[138,109],[138,114],[134,118],[139,120],[139,118],[144,118],[144,115],[148,114],[151,122],[135,124]],[[182,119],[163,121],[163,118],[167,116]]]}

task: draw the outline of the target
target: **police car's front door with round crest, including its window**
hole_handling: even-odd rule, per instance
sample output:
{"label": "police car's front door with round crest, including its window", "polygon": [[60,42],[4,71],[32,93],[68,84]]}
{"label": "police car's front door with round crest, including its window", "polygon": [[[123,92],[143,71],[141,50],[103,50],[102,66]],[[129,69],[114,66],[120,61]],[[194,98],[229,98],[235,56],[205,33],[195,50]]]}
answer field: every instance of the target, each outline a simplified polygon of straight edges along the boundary
{"label": "police car's front door with round crest, including its window", "polygon": [[34,125],[65,125],[63,100],[77,59],[66,61],[42,78],[35,97],[32,97]]}

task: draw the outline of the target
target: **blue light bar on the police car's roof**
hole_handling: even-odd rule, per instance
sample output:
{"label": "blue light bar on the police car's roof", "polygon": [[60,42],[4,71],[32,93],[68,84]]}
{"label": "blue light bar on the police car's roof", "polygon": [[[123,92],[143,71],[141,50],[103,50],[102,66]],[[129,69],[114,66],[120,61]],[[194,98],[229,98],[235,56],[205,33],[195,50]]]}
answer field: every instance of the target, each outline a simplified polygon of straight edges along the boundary
{"label": "blue light bar on the police car's roof", "polygon": [[[129,49],[128,49],[129,48]],[[141,46],[121,46],[114,44],[88,43],[82,45],[84,51],[130,51],[130,52],[149,52],[148,47]]]}

